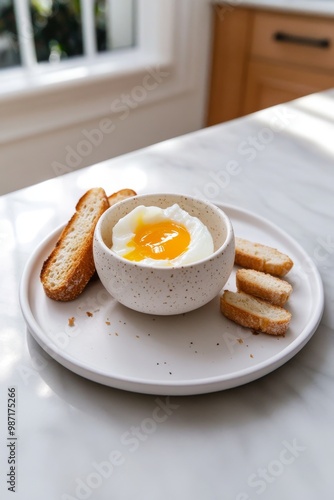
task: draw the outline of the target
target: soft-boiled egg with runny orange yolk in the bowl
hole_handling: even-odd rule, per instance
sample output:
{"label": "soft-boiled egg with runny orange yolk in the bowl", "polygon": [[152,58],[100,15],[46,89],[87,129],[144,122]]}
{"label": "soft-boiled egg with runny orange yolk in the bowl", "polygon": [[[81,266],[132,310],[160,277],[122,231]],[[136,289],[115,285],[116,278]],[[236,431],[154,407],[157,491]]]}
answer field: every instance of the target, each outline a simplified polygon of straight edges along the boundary
{"label": "soft-boiled egg with runny orange yolk in the bowl", "polygon": [[136,207],[115,224],[112,242],[121,257],[154,267],[192,264],[214,251],[208,228],[176,203]]}

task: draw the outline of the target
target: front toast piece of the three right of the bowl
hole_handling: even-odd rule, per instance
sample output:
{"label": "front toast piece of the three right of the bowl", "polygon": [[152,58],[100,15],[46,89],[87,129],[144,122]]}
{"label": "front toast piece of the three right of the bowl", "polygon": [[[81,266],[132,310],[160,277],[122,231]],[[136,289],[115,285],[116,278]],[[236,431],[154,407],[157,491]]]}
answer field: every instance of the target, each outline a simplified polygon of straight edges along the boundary
{"label": "front toast piece of the three right of the bowl", "polygon": [[291,313],[243,292],[225,290],[220,298],[220,310],[238,325],[269,335],[285,335]]}

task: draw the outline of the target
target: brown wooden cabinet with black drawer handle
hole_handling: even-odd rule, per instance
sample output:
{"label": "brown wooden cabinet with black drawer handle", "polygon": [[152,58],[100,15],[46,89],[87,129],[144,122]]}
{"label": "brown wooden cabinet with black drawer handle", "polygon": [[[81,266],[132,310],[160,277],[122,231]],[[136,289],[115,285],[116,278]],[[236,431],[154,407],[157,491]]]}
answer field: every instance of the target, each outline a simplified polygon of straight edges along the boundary
{"label": "brown wooden cabinet with black drawer handle", "polygon": [[214,9],[208,125],[334,87],[334,18]]}

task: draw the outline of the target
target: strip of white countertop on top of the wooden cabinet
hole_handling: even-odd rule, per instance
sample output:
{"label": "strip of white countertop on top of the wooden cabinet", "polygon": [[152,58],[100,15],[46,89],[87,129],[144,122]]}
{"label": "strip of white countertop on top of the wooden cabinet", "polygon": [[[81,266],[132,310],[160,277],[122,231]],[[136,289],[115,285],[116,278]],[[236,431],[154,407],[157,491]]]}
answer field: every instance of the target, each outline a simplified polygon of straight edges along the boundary
{"label": "strip of white countertop on top of the wooden cabinet", "polygon": [[226,4],[227,9],[233,7],[255,7],[264,9],[274,9],[301,14],[334,14],[333,0],[237,0],[237,1],[217,1],[217,4]]}

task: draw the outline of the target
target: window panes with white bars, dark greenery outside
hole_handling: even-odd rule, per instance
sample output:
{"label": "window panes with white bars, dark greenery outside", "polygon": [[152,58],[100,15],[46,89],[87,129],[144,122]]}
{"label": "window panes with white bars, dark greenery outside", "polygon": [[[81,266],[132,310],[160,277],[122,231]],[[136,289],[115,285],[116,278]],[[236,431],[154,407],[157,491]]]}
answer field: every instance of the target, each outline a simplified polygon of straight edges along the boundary
{"label": "window panes with white bars, dark greenery outside", "polygon": [[133,47],[136,0],[0,0],[0,70]]}

